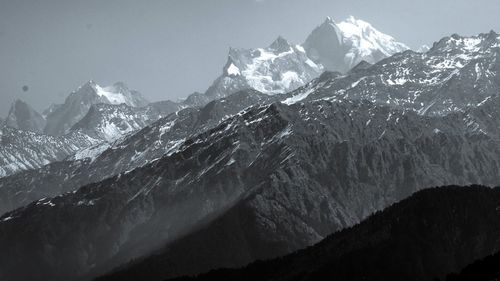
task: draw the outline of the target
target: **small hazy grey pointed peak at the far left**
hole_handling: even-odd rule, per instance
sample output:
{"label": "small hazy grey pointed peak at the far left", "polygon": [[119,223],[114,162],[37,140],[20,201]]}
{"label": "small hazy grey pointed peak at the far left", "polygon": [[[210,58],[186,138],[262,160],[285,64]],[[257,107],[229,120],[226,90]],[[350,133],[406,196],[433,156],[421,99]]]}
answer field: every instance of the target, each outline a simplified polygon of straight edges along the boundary
{"label": "small hazy grey pointed peak at the far left", "polygon": [[12,104],[3,124],[23,131],[42,133],[45,118],[27,103],[18,99]]}

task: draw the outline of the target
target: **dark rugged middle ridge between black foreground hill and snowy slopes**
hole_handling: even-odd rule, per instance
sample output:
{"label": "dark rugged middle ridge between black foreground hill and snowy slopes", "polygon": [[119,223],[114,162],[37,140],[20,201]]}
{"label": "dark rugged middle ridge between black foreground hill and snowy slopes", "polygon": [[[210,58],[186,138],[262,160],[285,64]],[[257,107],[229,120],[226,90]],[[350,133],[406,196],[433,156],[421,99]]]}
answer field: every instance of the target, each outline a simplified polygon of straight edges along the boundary
{"label": "dark rugged middle ridge between black foreground hill and snowy slopes", "polygon": [[215,241],[184,248],[199,255],[189,266],[179,256],[165,277],[242,266],[316,243],[429,186],[492,185],[499,143],[463,116],[366,101],[247,108],[142,167],[0,217],[0,276],[90,278],[225,215],[220,229],[237,235],[237,251]]}

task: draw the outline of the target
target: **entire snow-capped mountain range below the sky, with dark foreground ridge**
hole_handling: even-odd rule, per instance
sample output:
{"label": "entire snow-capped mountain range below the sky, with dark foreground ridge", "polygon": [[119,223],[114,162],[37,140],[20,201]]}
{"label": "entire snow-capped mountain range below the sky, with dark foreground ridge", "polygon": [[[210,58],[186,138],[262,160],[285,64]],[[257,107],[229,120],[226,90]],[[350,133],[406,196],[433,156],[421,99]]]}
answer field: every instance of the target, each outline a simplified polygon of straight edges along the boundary
{"label": "entire snow-capped mountain range below the sky, with dark foreground ridge", "polygon": [[498,185],[499,47],[455,34],[415,52],[328,18],[302,45],[230,49],[183,101],[92,81],[43,114],[16,101],[0,279],[164,280],[294,251],[200,278],[445,278],[497,249],[498,188],[421,190]]}

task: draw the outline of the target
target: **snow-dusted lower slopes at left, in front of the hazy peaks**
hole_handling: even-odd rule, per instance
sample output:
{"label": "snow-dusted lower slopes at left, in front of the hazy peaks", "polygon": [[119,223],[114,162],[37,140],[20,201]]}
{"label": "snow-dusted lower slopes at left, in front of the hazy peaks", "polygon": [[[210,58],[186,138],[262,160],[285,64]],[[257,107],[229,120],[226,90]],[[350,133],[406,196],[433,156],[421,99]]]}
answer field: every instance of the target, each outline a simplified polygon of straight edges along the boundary
{"label": "snow-dusted lower slopes at left, in front of the hazy peaks", "polygon": [[69,133],[57,137],[18,130],[8,125],[2,132],[0,177],[38,169],[75,153],[73,157],[78,159],[98,154],[113,141],[179,109],[179,105],[169,102],[140,108],[125,104],[96,104]]}

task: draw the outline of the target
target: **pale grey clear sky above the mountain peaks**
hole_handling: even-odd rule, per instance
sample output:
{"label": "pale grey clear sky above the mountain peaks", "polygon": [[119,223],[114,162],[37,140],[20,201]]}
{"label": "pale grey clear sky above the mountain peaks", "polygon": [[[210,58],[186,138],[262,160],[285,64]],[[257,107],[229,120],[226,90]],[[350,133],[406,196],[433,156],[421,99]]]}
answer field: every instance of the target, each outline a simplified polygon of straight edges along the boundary
{"label": "pale grey clear sky above the mountain peaks", "polygon": [[327,16],[418,48],[500,32],[499,11],[498,0],[0,0],[0,117],[16,98],[43,111],[88,80],[150,101],[204,92],[230,46],[302,43]]}

